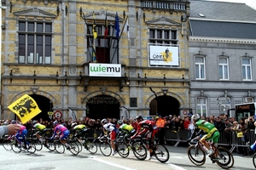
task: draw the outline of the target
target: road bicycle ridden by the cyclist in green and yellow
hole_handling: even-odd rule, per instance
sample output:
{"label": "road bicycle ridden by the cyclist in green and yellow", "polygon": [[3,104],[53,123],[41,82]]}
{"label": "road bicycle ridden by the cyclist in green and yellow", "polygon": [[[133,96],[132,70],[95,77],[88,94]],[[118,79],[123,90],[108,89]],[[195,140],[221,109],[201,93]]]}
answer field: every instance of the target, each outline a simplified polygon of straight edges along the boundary
{"label": "road bicycle ridden by the cyclist in green and yellow", "polygon": [[[195,142],[195,144],[192,144],[192,142]],[[233,167],[234,157],[230,153],[230,150],[227,150],[222,146],[215,147],[214,144],[209,141],[207,141],[207,143],[210,145],[210,147],[212,147],[212,150],[214,150],[214,154],[212,154],[212,156],[209,156],[213,163],[216,162],[219,167],[222,167],[224,169],[229,169]],[[189,142],[189,145],[189,160],[196,166],[203,165],[206,162],[207,150],[205,150],[205,146],[201,143],[200,138],[195,137],[195,139],[192,139]]]}

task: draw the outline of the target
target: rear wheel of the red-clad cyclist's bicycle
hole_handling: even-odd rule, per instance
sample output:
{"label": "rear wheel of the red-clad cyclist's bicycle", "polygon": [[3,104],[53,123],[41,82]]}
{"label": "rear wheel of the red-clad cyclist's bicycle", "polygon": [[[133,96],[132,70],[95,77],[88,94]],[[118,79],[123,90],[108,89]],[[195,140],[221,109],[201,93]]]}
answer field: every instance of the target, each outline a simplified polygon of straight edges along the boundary
{"label": "rear wheel of the red-clad cyclist's bicycle", "polygon": [[158,161],[164,163],[169,160],[169,150],[167,150],[166,146],[164,146],[163,144],[155,144],[154,156]]}

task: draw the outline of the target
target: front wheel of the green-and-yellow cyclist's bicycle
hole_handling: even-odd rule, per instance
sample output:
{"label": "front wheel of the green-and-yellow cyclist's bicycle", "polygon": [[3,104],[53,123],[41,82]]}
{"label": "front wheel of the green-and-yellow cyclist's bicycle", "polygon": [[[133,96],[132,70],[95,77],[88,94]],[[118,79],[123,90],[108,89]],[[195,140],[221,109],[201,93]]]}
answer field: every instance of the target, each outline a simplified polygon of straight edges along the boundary
{"label": "front wheel of the green-and-yellow cyclist's bicycle", "polygon": [[206,153],[195,145],[191,145],[188,148],[189,160],[196,166],[201,166],[206,162]]}

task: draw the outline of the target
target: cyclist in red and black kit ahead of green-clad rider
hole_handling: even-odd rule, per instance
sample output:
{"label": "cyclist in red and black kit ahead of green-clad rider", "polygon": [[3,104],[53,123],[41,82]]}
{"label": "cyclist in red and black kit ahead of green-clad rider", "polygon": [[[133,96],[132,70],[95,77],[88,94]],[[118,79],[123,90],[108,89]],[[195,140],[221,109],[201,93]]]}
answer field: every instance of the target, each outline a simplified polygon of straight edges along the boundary
{"label": "cyclist in red and black kit ahead of green-clad rider", "polygon": [[[131,139],[134,139],[135,137],[137,137],[137,135],[141,135],[148,132],[148,136],[147,136],[148,144],[149,144],[148,151],[150,153],[148,160],[150,160],[152,156],[154,156],[154,153],[153,153],[154,135],[158,132],[158,128],[153,121],[148,121],[148,120],[143,121],[143,116],[137,116],[136,120],[137,120],[137,132],[131,137]],[[143,130],[141,131],[142,127],[143,127]]]}

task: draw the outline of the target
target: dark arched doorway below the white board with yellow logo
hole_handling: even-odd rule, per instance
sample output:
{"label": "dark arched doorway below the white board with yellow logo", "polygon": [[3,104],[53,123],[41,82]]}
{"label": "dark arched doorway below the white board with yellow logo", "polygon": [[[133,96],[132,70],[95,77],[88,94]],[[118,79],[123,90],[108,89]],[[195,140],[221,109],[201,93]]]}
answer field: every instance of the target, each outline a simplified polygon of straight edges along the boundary
{"label": "dark arched doorway below the white board with yellow logo", "polygon": [[154,98],[150,102],[150,116],[155,116],[157,113],[161,116],[176,115],[179,116],[180,103],[172,96],[162,95]]}

